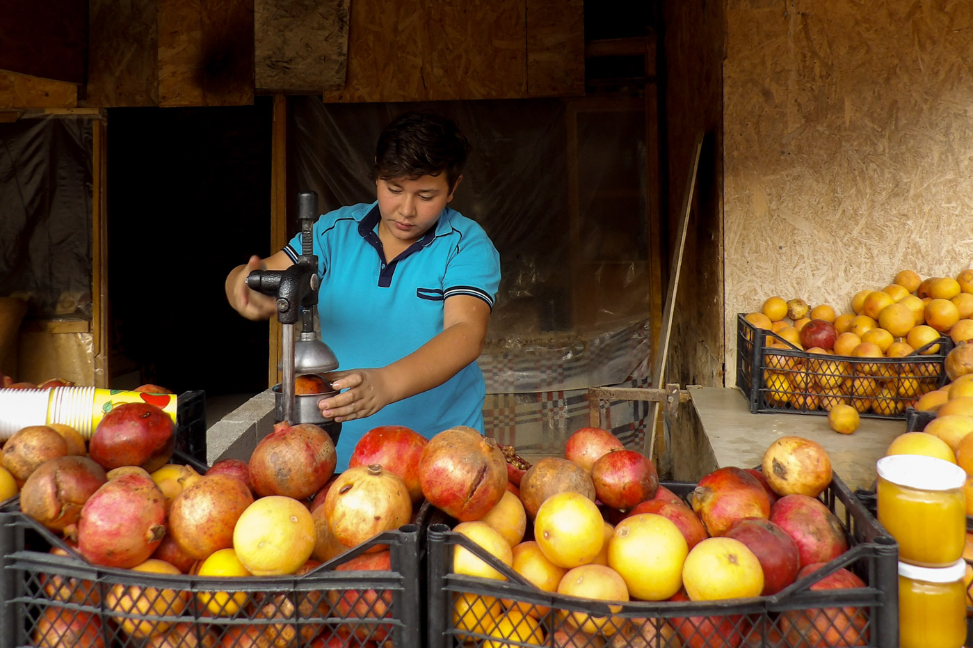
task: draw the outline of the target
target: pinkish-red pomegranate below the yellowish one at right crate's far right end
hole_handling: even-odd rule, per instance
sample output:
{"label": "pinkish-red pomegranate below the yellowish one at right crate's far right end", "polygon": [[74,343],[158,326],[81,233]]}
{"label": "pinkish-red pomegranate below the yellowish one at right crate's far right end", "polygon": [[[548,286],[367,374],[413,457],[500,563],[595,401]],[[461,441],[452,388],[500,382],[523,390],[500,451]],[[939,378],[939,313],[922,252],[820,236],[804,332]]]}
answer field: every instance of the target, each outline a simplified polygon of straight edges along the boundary
{"label": "pinkish-red pomegranate below the yellowish one at right crate's far right end", "polygon": [[827,562],[848,550],[842,521],[816,498],[781,497],[771,509],[771,521],[797,543],[802,567]]}

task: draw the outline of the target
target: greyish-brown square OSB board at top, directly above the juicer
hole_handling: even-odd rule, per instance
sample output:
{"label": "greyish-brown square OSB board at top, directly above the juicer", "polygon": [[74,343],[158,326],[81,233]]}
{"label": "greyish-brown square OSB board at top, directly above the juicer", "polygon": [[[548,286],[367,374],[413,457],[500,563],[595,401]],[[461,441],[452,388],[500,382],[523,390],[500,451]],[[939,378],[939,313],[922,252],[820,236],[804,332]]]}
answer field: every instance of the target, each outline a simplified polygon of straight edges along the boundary
{"label": "greyish-brown square OSB board at top, directly above the juicer", "polygon": [[258,91],[337,91],[347,76],[351,0],[254,2],[254,79]]}

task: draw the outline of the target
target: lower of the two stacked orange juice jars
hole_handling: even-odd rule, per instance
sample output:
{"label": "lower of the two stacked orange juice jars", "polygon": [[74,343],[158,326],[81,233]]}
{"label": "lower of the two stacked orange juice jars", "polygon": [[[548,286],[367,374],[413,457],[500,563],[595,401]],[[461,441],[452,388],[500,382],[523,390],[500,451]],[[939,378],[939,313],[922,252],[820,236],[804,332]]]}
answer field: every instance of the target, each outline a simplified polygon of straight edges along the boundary
{"label": "lower of the two stacked orange juice jars", "polygon": [[966,561],[899,562],[899,648],[960,648],[966,641]]}

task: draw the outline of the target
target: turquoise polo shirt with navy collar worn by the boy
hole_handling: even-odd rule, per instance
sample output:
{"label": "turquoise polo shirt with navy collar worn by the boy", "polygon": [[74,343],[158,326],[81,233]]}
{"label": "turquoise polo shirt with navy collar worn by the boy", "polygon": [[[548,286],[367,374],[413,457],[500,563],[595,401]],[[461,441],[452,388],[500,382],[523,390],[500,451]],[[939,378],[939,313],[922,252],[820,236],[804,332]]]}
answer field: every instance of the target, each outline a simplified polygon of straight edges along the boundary
{"label": "turquoise polo shirt with navy collar worn by the boy", "polygon": [[[378,241],[378,203],[322,214],[313,251],[321,287],[321,339],[340,368],[373,368],[398,361],[443,330],[444,301],[465,294],[492,309],[500,256],[483,228],[447,208],[433,227],[397,258],[386,261]],[[284,252],[296,261],[301,235]],[[342,423],[338,470],[347,468],[358,439],[380,425],[403,425],[425,438],[456,425],[484,432],[486,384],[470,362],[439,387],[393,402],[372,416]]]}

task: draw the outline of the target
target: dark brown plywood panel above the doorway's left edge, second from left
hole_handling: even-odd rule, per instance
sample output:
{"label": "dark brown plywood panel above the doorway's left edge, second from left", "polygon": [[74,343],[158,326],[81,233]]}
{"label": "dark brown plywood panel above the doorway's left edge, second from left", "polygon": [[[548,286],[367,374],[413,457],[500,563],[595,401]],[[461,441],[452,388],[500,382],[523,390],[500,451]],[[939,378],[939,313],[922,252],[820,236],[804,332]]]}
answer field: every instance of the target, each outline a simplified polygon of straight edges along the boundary
{"label": "dark brown plywood panel above the doorway's left edge, second from left", "polygon": [[90,0],[90,106],[158,105],[156,14],[156,0]]}

